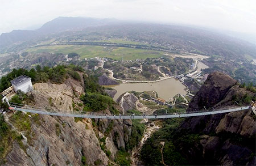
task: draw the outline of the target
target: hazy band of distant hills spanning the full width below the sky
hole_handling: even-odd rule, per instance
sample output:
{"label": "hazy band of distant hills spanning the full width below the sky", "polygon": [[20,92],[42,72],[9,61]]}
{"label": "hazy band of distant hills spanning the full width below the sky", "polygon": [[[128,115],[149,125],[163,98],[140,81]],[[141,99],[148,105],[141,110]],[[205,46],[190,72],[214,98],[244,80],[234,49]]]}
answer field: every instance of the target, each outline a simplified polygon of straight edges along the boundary
{"label": "hazy band of distant hills spanning the full width below the sky", "polygon": [[[53,33],[55,35],[50,36]],[[62,44],[72,41],[122,39],[146,43],[156,48],[171,50],[174,53],[189,52],[233,58],[240,58],[244,55],[250,58],[256,57],[255,45],[217,32],[178,25],[79,17],[59,17],[45,23],[35,31],[18,30],[2,33],[0,49],[2,52],[16,52],[35,46],[40,41],[49,40],[49,38],[57,38]],[[23,44],[22,41],[29,42]],[[17,42],[23,45],[16,45],[14,48],[12,44]],[[5,49],[7,46],[9,48]]]}

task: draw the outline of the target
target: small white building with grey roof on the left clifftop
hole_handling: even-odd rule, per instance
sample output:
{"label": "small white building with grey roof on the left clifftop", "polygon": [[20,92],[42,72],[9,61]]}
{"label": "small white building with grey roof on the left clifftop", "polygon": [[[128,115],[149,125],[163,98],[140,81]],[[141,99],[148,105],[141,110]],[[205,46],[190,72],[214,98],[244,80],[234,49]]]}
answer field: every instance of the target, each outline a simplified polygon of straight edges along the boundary
{"label": "small white building with grey roof on the left clifftop", "polygon": [[26,75],[20,75],[18,78],[11,80],[11,85],[15,92],[20,90],[27,93],[33,90],[31,78]]}

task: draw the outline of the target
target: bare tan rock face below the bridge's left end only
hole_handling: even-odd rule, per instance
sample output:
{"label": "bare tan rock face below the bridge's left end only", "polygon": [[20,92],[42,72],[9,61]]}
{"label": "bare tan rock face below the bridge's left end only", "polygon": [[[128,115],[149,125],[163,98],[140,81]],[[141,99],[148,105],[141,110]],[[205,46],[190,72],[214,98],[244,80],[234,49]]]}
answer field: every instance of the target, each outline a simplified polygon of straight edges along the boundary
{"label": "bare tan rock face below the bridge's left end only", "polygon": [[75,122],[73,118],[40,116],[40,121],[40,126],[31,126],[32,141],[23,140],[26,151],[14,144],[6,157],[6,165],[62,165],[66,162],[80,165],[82,156],[88,164],[97,159],[108,164],[109,159],[101,150],[89,120]]}

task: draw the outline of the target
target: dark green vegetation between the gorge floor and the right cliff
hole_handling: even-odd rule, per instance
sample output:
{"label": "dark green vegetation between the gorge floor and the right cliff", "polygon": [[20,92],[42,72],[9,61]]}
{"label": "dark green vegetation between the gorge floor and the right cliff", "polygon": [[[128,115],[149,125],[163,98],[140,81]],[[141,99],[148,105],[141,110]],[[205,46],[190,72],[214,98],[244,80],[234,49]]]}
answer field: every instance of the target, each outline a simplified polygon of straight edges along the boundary
{"label": "dark green vegetation between the gorge floor and the right cliff", "polygon": [[[165,112],[166,110],[164,110]],[[160,114],[162,110],[159,110]],[[184,112],[184,109],[179,108],[170,108],[167,110],[168,113]],[[176,149],[179,146],[176,146],[176,143],[172,140],[182,139],[177,137],[175,129],[180,125],[184,118],[174,118],[163,120],[163,127],[156,131],[147,141],[144,143],[141,154],[141,160],[146,165],[163,165],[162,163],[162,145],[160,142],[165,142],[163,148],[163,158],[164,163],[168,165],[185,165],[187,160],[178,152]],[[187,136],[189,137],[189,135]],[[174,139],[174,140],[175,140]],[[192,141],[192,140],[191,140]]]}

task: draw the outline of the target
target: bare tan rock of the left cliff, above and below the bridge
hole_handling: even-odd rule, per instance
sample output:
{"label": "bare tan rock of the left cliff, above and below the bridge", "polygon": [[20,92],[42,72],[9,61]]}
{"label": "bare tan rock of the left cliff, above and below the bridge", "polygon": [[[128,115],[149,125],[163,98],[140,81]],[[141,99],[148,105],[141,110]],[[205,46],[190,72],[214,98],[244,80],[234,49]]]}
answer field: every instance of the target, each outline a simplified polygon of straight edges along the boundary
{"label": "bare tan rock of the left cliff, above and below the bridge", "polygon": [[[34,101],[28,104],[71,111],[73,103],[82,103],[78,96],[84,93],[83,83],[69,78],[64,84],[36,83],[34,89]],[[23,135],[22,146],[14,141],[6,165],[81,165],[82,159],[88,165],[113,164],[117,150],[125,148],[131,134],[130,120],[92,121],[19,113],[18,120],[23,117],[28,126],[20,128],[12,113],[6,116],[13,130]],[[106,151],[111,154],[107,156]]]}

